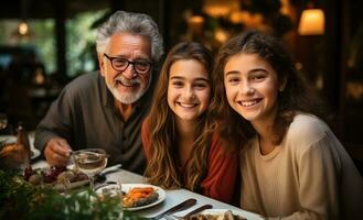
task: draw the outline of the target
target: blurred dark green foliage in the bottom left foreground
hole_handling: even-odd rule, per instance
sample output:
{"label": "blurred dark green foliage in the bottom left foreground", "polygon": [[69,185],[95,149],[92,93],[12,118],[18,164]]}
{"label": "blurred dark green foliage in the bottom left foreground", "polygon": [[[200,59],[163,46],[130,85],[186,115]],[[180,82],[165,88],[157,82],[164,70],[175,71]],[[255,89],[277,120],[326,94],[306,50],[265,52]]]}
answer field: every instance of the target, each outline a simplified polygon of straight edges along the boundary
{"label": "blurred dark green foliage in the bottom left foreground", "polygon": [[[33,186],[15,172],[0,169],[0,219],[120,219],[119,199],[100,201],[90,190],[62,195]],[[124,219],[140,219],[124,211]]]}

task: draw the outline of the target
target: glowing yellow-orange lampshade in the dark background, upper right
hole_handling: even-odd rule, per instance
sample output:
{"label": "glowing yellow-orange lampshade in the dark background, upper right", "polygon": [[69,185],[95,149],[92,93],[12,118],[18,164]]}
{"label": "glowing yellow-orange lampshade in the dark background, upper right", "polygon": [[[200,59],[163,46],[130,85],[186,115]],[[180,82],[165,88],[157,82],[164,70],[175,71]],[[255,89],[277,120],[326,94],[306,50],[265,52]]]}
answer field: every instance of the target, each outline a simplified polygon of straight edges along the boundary
{"label": "glowing yellow-orange lampshade in the dark background, upper right", "polygon": [[298,32],[300,35],[324,34],[324,12],[321,9],[303,10]]}

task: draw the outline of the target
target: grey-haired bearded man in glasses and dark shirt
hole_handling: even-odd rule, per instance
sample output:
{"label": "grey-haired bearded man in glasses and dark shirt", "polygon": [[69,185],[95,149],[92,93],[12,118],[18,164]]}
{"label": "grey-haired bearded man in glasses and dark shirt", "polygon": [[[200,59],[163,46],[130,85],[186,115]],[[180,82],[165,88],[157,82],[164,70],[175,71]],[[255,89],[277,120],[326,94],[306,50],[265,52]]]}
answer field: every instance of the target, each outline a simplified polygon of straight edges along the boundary
{"label": "grey-haired bearded man in glasses and dark shirt", "polygon": [[73,150],[102,147],[108,164],[142,173],[140,127],[163,54],[162,37],[149,15],[118,11],[98,29],[96,46],[99,73],[63,89],[38,125],[35,146],[51,165],[65,165]]}

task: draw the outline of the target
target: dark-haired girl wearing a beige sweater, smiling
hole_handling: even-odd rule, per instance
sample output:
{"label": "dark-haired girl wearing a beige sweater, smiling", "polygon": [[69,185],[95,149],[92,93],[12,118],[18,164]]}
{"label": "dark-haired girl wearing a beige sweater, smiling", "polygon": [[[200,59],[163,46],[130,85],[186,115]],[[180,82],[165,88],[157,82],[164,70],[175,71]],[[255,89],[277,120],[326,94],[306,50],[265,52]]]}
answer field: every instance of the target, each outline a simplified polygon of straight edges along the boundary
{"label": "dark-haired girl wearing a beige sweater, smiling", "polygon": [[363,219],[362,177],[277,40],[257,32],[229,40],[213,76],[221,138],[244,143],[243,209],[278,219]]}

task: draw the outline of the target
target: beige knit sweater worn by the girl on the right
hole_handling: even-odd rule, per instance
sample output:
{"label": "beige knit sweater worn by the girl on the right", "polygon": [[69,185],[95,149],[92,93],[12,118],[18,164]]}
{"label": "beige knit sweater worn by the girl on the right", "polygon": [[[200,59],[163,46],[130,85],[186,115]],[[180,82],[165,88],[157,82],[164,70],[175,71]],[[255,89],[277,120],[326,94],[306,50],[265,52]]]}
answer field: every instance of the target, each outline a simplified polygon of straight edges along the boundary
{"label": "beige knit sweater worn by the girl on the right", "polygon": [[245,210],[270,219],[363,219],[363,179],[324,122],[295,117],[282,140],[261,155],[255,138],[241,152]]}

